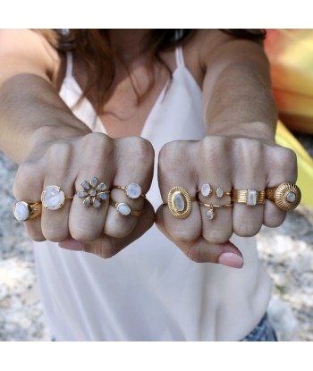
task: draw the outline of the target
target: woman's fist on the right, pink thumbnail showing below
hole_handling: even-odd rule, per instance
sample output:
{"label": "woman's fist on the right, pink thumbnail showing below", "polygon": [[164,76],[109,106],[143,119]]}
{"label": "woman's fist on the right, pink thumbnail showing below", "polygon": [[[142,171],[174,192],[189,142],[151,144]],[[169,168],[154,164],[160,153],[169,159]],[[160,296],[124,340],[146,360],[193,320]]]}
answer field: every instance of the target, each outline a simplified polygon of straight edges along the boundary
{"label": "woman's fist on the right, pink thumbnail showing below", "polygon": [[[165,203],[174,186],[182,186],[193,198],[203,184],[209,183],[214,192],[209,198],[199,193],[199,200],[225,205],[231,203],[231,197],[216,198],[217,188],[265,190],[297,179],[296,156],[290,149],[270,140],[226,136],[166,144],[159,155],[158,173]],[[230,242],[233,232],[242,237],[254,236],[262,224],[276,227],[285,217],[285,212],[269,200],[265,205],[234,203],[233,207],[216,208],[213,220],[208,220],[206,213],[207,207],[193,201],[190,215],[176,219],[167,206],[162,206],[157,211],[157,226],[191,260],[238,268],[243,259]]]}

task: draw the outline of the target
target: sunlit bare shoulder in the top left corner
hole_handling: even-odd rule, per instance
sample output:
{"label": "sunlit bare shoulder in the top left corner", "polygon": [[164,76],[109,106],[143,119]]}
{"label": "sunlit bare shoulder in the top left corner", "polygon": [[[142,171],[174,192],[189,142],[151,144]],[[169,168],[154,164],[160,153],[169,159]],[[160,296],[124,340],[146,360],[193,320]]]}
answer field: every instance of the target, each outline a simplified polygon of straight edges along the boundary
{"label": "sunlit bare shoulder in the top left corner", "polygon": [[56,80],[60,56],[35,30],[0,30],[0,84],[20,73]]}

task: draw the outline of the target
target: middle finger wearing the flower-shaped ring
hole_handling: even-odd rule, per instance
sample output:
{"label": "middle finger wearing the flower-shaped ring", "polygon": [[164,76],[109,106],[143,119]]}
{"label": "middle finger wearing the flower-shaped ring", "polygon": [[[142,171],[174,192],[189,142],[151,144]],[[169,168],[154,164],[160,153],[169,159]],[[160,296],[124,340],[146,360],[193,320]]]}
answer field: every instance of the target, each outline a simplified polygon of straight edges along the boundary
{"label": "middle finger wearing the flower-shaped ring", "polygon": [[[92,133],[81,141],[85,148],[75,177],[69,230],[74,240],[93,241],[103,233],[108,210],[108,194],[114,176],[113,140]],[[95,150],[97,148],[97,150]],[[103,197],[104,199],[101,199]]]}

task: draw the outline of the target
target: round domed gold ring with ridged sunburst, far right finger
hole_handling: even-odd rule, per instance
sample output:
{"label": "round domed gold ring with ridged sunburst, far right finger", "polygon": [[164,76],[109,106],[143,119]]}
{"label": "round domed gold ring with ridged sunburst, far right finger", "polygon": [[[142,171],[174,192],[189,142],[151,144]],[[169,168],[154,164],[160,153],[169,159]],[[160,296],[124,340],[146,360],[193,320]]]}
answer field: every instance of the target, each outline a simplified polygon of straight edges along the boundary
{"label": "round domed gold ring with ridged sunburst, far right finger", "polygon": [[300,204],[301,191],[295,184],[283,182],[277,187],[266,188],[266,198],[283,211],[290,211]]}

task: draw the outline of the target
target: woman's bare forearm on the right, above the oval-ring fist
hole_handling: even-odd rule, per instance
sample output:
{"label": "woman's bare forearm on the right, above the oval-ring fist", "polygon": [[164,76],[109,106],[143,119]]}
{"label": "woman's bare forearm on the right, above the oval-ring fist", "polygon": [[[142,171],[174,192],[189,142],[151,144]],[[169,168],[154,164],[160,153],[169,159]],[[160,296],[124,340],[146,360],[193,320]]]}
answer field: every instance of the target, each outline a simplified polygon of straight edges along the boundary
{"label": "woman's bare forearm on the right, above the oval-ring fist", "polygon": [[207,72],[207,135],[274,138],[277,114],[268,63],[261,46],[251,47],[250,54],[239,52],[233,60],[226,60],[222,51],[219,67]]}

